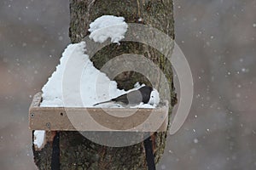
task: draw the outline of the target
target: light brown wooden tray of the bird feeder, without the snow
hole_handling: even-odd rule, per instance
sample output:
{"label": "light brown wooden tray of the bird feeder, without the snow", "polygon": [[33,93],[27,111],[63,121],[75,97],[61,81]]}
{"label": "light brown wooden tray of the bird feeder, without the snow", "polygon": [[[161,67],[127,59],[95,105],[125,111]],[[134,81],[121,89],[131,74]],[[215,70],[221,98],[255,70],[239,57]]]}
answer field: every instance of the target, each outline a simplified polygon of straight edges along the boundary
{"label": "light brown wooden tray of the bird feeder, without the snow", "polygon": [[49,131],[163,132],[168,125],[168,102],[154,109],[40,107],[42,93],[29,108],[29,128]]}

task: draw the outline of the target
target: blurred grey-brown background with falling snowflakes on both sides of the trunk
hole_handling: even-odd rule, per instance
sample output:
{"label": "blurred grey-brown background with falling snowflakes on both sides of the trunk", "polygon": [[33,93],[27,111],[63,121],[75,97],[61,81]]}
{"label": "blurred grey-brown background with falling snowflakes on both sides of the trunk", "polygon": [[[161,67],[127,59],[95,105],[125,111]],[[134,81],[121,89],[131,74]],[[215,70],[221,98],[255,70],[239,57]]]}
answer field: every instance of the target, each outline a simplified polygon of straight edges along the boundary
{"label": "blurred grey-brown background with falling snowflakes on both sides of the trunk", "polygon": [[[256,169],[256,1],[174,3],[195,96],[158,169]],[[70,42],[68,5],[0,0],[0,169],[37,169],[27,112]]]}

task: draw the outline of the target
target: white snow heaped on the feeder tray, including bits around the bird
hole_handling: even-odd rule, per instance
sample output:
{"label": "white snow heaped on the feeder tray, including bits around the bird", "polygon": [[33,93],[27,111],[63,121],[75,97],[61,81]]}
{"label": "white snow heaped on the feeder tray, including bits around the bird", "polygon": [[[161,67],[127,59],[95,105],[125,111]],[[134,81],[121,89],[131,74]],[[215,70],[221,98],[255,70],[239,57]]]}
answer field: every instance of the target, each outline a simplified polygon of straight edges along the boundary
{"label": "white snow heaped on the feeder tray, including bits around the bird", "polygon": [[[117,82],[111,81],[105,73],[97,70],[89,56],[84,53],[85,42],[67,46],[62,54],[60,65],[56,66],[56,71],[42,88],[41,107],[92,107],[96,103],[116,98],[144,86],[137,83],[135,88],[129,91],[119,90]],[[71,75],[69,71],[72,71]],[[136,107],[153,108],[158,105],[158,92],[154,90],[151,96],[148,104]],[[100,106],[121,107],[113,103]]]}

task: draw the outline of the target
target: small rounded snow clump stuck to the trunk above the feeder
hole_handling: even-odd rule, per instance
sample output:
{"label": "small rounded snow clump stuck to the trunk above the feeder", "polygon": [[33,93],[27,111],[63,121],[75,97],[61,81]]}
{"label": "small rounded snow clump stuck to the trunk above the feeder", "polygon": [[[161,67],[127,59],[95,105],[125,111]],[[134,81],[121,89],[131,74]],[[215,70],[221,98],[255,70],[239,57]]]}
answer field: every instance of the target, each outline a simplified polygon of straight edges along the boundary
{"label": "small rounded snow clump stuck to the trunk above the feeder", "polygon": [[124,17],[102,15],[90,23],[89,37],[95,42],[105,42],[109,37],[111,42],[119,43],[125,37],[127,28]]}

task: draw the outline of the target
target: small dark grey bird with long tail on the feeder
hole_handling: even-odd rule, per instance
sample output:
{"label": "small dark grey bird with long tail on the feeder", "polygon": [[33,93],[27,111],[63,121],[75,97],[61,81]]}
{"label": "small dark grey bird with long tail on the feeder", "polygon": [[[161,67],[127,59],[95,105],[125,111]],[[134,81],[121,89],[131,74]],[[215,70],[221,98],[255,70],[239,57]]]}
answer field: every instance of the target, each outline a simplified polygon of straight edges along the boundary
{"label": "small dark grey bird with long tail on the feeder", "polygon": [[103,101],[95,105],[101,105],[109,102],[115,102],[121,105],[139,105],[141,102],[143,102],[143,104],[147,104],[150,99],[150,94],[152,91],[153,88],[151,88],[150,86],[143,86],[142,88],[133,90],[127,94],[122,94],[117,98],[110,99],[108,101]]}

